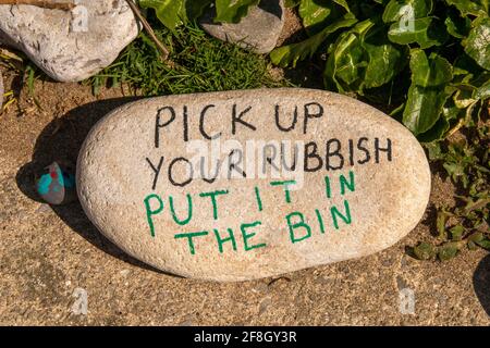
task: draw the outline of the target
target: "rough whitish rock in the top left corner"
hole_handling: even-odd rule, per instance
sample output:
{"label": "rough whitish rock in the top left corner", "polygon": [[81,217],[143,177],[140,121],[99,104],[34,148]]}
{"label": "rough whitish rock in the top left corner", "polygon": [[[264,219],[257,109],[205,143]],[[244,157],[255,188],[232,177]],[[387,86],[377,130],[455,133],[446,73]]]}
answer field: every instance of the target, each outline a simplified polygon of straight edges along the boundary
{"label": "rough whitish rock in the top left corner", "polygon": [[0,41],[22,50],[50,77],[75,82],[110,65],[137,36],[125,0],[77,0],[72,11],[0,5]]}

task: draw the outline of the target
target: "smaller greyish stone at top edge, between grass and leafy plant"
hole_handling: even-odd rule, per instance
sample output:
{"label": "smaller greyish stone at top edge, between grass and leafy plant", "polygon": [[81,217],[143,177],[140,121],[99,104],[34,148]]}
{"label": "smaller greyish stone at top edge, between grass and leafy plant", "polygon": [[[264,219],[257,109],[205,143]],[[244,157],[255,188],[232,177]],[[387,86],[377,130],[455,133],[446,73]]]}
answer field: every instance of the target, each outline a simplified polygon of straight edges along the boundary
{"label": "smaller greyish stone at top edge, between grass and leafy plant", "polygon": [[200,20],[211,36],[236,44],[256,53],[269,53],[275,48],[284,26],[283,0],[261,1],[248,10],[240,23],[215,23],[216,10],[210,9]]}

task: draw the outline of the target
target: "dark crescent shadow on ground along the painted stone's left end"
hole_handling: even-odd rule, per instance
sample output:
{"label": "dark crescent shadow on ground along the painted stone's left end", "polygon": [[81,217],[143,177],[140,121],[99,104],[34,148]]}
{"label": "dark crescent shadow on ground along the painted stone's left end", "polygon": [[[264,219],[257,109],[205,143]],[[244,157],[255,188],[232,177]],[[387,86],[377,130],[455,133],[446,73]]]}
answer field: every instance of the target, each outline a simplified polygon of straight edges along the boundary
{"label": "dark crescent shadow on ground along the painted stone's left end", "polygon": [[[35,191],[35,174],[40,173],[53,161],[74,169],[79,148],[97,121],[111,110],[137,99],[133,97],[91,102],[77,107],[49,123],[36,140],[32,161],[23,165],[16,174],[19,189],[28,198],[41,201]],[[51,206],[51,208],[73,231],[102,251],[133,265],[160,272],[127,256],[103,237],[85,215],[78,201],[66,206]]]}

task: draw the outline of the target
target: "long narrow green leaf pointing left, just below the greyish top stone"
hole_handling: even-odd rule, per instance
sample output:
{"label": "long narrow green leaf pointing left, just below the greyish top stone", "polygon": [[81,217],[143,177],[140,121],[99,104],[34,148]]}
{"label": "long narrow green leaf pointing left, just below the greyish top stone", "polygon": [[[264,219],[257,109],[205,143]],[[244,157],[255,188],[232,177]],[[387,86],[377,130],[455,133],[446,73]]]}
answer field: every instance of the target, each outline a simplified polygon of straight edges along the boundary
{"label": "long narrow green leaf pointing left, just below the greyish top stone", "polygon": [[320,33],[311,36],[305,41],[292,44],[274,49],[270,52],[270,59],[275,65],[285,67],[287,65],[296,66],[297,61],[310,58],[327,39],[327,37],[340,28],[353,26],[357,20],[345,18],[327,26]]}

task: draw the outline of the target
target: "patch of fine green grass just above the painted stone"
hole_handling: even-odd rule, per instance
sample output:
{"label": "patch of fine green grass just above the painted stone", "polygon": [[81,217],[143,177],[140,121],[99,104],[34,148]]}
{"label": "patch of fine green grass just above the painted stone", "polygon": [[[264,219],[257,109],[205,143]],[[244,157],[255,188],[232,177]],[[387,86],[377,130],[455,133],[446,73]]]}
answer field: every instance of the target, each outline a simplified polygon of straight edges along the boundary
{"label": "patch of fine green grass just above the painted stone", "polygon": [[88,79],[94,94],[121,83],[143,96],[292,86],[271,76],[265,57],[211,38],[197,25],[171,33],[156,21],[150,23],[174,66],[162,62],[156,45],[140,33],[112,65]]}

